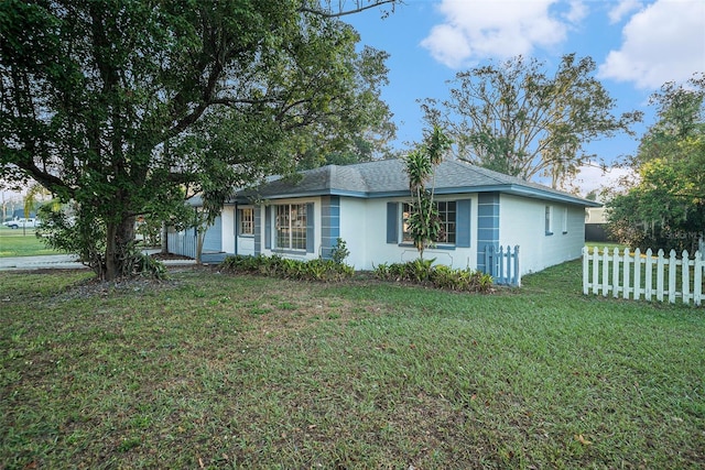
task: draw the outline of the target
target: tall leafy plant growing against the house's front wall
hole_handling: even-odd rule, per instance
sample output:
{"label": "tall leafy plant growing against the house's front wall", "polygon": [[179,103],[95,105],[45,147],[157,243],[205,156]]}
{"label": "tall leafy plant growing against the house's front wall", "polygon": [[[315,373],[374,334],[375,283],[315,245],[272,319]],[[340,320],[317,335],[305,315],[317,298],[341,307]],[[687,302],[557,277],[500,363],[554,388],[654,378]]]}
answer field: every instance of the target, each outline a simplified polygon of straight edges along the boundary
{"label": "tall leafy plant growing against the house's front wall", "polygon": [[419,258],[433,247],[442,233],[441,216],[434,204],[435,168],[451,149],[448,139],[438,125],[426,133],[424,141],[405,157],[411,214],[408,225]]}

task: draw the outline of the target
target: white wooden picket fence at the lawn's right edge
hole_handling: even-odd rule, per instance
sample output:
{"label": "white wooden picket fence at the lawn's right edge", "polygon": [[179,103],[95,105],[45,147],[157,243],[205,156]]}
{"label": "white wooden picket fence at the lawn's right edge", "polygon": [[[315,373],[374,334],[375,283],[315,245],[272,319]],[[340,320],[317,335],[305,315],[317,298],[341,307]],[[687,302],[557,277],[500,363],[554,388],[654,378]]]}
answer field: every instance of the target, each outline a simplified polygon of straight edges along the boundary
{"label": "white wooden picket fence at the lawn's right edge", "polygon": [[703,293],[703,271],[705,252],[696,251],[690,258],[687,251],[677,258],[675,250],[664,256],[663,250],[654,255],[652,250],[641,253],[639,249],[622,253],[594,247],[592,252],[583,248],[583,294],[603,294],[607,297],[632,298],[639,300],[675,303],[681,298],[684,304],[691,300],[697,306],[705,304]]}

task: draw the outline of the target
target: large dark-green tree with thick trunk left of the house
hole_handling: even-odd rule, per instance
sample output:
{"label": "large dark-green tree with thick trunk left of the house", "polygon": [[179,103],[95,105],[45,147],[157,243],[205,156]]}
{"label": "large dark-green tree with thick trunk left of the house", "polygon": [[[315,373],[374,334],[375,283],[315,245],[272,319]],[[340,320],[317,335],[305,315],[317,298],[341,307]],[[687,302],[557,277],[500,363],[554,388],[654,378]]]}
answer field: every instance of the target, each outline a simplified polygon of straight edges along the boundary
{"label": "large dark-green tree with thick trunk left of the house", "polygon": [[0,177],[73,201],[84,260],[127,274],[135,216],[198,193],[215,217],[234,186],[383,114],[386,55],[358,53],[339,17],[394,0],[337,4],[1,2]]}

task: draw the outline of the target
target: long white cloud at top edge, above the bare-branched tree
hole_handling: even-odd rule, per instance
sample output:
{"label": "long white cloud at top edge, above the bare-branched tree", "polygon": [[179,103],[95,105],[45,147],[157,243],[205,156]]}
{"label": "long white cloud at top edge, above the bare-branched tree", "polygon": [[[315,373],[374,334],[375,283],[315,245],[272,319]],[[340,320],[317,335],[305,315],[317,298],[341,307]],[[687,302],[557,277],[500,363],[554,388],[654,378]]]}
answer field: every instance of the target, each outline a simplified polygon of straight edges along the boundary
{"label": "long white cloud at top edge, above the bare-branched tree", "polygon": [[[567,11],[558,13],[555,7]],[[457,68],[469,61],[529,55],[565,41],[572,23],[586,15],[583,1],[442,0],[443,24],[421,42],[433,57]]]}

